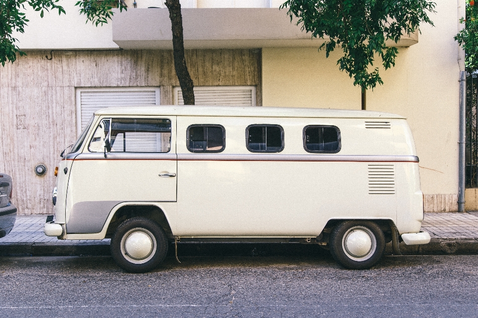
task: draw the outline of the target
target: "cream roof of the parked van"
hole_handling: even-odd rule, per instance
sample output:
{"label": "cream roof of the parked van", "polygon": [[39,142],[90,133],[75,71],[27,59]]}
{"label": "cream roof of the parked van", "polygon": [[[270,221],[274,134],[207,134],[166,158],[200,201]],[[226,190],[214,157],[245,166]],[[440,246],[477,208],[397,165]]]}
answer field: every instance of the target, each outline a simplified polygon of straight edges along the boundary
{"label": "cream roof of the parked van", "polygon": [[153,116],[236,116],[236,117],[324,117],[324,118],[396,118],[403,116],[364,110],[330,108],[292,108],[257,106],[199,106],[199,105],[121,105],[102,108],[96,115],[153,115]]}

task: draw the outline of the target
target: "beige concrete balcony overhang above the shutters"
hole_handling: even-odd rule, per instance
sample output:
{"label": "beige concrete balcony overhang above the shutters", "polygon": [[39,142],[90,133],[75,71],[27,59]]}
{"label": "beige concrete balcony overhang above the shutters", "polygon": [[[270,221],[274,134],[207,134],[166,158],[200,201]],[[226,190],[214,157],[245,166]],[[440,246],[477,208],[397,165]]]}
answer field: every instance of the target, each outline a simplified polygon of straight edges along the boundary
{"label": "beige concrete balcony overhang above the shutters", "polygon": [[[113,41],[122,49],[173,48],[167,8],[114,9]],[[277,8],[182,9],[186,49],[239,49],[264,47],[318,47],[325,39],[291,23],[287,10]],[[387,46],[408,47],[418,43],[418,33],[403,35]]]}

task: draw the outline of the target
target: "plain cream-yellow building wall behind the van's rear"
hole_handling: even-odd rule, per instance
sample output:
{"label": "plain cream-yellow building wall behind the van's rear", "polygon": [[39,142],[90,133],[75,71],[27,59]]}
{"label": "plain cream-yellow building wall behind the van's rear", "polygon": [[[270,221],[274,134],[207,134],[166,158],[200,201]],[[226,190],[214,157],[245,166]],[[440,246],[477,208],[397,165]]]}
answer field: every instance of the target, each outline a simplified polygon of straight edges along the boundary
{"label": "plain cream-yellow building wall behind the van's rear", "polygon": [[[458,209],[458,10],[437,1],[435,27],[423,25],[418,44],[399,48],[395,67],[381,70],[384,84],[367,91],[367,109],[408,118],[428,211]],[[338,51],[327,59],[316,48],[264,48],[263,105],[360,109],[360,89],[339,71]]]}

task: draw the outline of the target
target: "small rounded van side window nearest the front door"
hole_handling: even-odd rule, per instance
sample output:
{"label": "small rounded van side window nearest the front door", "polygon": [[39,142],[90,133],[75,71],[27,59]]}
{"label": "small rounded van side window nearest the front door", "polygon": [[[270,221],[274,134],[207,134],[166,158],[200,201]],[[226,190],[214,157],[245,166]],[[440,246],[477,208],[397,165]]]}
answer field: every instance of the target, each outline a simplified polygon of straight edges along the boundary
{"label": "small rounded van side window nearest the front door", "polygon": [[192,153],[220,153],[226,148],[226,130],[221,125],[191,125],[186,135]]}

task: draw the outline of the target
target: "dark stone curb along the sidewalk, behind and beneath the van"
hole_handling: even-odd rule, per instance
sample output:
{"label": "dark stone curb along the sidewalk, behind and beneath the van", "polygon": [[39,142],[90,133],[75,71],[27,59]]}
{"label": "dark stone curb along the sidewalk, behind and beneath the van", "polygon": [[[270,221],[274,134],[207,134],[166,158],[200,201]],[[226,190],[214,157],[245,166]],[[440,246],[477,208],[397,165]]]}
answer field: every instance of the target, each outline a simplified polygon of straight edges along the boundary
{"label": "dark stone curb along the sidewalk, behind and beneath the van", "polygon": [[[478,254],[478,239],[432,239],[424,245],[400,243],[403,255],[464,255]],[[238,243],[181,242],[181,257],[218,256],[311,256],[325,252],[316,244],[302,243]],[[14,242],[0,243],[1,256],[110,256],[109,242]],[[391,244],[385,255],[393,255]],[[168,257],[174,257],[174,244],[169,245]]]}

